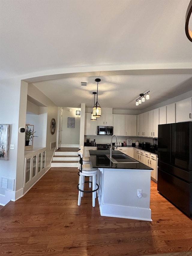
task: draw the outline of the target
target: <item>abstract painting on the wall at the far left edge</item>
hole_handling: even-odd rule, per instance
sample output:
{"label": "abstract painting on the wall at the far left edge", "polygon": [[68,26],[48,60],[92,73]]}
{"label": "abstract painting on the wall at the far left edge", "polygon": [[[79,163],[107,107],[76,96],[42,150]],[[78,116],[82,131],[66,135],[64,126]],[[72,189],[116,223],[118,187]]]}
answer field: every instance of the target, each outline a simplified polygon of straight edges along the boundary
{"label": "abstract painting on the wall at the far left edge", "polygon": [[10,125],[0,125],[0,160],[9,160],[9,128]]}

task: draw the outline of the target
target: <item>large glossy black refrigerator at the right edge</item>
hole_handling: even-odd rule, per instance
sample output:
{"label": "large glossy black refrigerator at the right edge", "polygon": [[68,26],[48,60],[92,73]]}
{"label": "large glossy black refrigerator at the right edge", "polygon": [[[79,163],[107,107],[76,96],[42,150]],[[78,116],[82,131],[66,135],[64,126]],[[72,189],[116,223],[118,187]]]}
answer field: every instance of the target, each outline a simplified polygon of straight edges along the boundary
{"label": "large glossy black refrigerator at the right edge", "polygon": [[158,125],[157,189],[192,217],[192,122]]}

